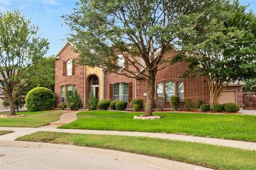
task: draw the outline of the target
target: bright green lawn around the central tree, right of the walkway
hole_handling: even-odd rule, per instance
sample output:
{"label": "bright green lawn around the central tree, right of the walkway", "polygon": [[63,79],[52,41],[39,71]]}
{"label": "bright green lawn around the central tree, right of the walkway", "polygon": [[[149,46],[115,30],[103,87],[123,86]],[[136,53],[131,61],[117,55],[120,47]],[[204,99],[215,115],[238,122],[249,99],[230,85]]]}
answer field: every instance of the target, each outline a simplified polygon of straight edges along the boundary
{"label": "bright green lawn around the central tree, right of the walkway", "polygon": [[241,141],[256,141],[256,116],[234,114],[154,113],[160,120],[133,120],[134,115],[111,111],[89,111],[62,129],[159,132]]}

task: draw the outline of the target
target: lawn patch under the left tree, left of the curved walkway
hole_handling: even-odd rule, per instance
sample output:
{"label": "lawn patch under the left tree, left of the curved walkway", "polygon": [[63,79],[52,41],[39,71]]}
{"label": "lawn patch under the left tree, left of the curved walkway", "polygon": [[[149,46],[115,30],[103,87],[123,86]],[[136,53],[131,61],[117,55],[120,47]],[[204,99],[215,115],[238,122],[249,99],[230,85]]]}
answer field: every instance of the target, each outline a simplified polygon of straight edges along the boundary
{"label": "lawn patch under the left tree, left of the curved walkway", "polygon": [[22,112],[18,114],[24,114],[26,115],[25,117],[0,118],[0,126],[37,128],[39,126],[49,125],[50,122],[58,121],[60,115],[63,113],[61,111]]}

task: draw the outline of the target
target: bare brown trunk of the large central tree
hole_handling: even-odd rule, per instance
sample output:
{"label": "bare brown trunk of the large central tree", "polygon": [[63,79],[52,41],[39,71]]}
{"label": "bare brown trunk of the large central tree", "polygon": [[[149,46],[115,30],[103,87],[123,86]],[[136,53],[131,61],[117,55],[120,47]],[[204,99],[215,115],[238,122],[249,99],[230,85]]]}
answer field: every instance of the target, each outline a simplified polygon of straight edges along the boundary
{"label": "bare brown trunk of the large central tree", "polygon": [[148,90],[147,90],[147,100],[146,100],[146,108],[145,108],[145,116],[153,116],[152,115],[152,107],[154,103],[154,95],[155,95],[155,78],[148,80]]}

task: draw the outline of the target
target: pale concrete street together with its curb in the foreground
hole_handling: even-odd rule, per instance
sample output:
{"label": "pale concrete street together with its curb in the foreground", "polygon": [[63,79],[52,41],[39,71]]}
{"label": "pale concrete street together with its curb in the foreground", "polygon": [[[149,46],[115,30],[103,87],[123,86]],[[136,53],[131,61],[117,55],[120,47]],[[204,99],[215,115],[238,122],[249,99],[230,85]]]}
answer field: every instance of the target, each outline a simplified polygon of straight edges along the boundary
{"label": "pale concrete street together with its curb in the foreground", "polygon": [[210,170],[197,165],[108,149],[23,141],[0,141],[0,146],[0,169]]}

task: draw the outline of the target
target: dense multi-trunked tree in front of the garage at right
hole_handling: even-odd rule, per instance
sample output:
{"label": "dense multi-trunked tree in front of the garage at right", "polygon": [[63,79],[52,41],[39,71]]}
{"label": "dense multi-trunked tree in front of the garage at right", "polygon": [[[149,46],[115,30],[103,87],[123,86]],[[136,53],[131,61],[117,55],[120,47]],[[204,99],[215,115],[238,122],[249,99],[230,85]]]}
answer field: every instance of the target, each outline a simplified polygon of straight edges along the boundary
{"label": "dense multi-trunked tree in front of the garage at right", "polygon": [[238,1],[226,1],[182,16],[179,36],[191,69],[184,77],[191,73],[206,77],[211,106],[230,82],[256,75],[256,16],[245,10]]}

